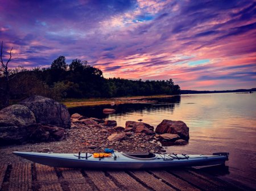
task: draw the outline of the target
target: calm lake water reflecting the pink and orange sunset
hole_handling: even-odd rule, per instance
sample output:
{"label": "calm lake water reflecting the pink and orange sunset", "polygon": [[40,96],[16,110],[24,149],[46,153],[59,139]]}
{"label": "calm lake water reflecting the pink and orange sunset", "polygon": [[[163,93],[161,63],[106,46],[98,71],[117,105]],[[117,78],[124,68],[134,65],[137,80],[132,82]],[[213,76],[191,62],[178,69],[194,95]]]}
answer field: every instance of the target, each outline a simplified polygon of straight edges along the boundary
{"label": "calm lake water reflecting the pink and orange sunset", "polygon": [[[123,127],[126,121],[139,119],[155,128],[162,120],[183,121],[189,127],[189,143],[167,146],[167,153],[229,152],[221,179],[256,189],[256,94],[191,94],[154,100],[158,102],[80,107],[69,112],[116,120]],[[104,114],[104,108],[116,112]]]}

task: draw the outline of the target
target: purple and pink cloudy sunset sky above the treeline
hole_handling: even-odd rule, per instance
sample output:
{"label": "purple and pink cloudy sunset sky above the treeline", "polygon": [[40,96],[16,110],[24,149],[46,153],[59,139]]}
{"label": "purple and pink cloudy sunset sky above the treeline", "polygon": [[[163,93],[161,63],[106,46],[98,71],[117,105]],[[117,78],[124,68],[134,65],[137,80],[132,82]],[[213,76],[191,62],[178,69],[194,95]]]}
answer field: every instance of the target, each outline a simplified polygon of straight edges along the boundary
{"label": "purple and pink cloudy sunset sky above the treeline", "polygon": [[1,0],[10,67],[75,58],[104,77],[166,80],[181,90],[256,87],[256,1]]}

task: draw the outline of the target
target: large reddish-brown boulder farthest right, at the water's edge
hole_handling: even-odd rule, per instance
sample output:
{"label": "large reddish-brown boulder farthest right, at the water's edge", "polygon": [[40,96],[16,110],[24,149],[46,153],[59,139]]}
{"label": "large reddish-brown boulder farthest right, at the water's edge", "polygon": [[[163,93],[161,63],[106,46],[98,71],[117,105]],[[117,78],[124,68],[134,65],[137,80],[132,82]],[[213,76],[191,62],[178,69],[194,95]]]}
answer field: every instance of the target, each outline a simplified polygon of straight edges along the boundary
{"label": "large reddish-brown boulder farthest right, at the water's edge", "polygon": [[177,134],[180,138],[189,138],[189,128],[183,121],[163,120],[155,129],[156,133]]}

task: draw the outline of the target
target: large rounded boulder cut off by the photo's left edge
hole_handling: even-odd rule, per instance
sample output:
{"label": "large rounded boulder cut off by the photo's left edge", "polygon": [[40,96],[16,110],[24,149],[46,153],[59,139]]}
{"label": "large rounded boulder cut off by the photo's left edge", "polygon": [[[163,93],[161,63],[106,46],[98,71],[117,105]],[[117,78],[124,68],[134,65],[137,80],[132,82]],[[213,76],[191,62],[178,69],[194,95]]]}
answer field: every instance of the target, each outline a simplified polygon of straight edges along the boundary
{"label": "large rounded boulder cut off by the photo's left edge", "polygon": [[20,144],[27,139],[26,127],[36,123],[34,113],[24,105],[10,105],[0,111],[0,145]]}

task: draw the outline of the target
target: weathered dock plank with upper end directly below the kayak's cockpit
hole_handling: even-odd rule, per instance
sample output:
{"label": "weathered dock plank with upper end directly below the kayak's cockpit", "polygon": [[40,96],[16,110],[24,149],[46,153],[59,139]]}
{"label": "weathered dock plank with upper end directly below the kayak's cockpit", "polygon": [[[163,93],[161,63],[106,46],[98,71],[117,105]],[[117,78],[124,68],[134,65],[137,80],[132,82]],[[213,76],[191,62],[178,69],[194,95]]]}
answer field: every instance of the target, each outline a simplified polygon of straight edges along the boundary
{"label": "weathered dock plank with upper end directly below the kayak's cockpit", "polygon": [[146,171],[133,170],[129,171],[129,173],[134,176],[138,181],[143,182],[143,184],[147,185],[153,190],[175,190],[167,184],[164,184],[164,182],[160,181],[159,179],[156,179],[154,176],[150,175],[150,173],[147,173]]}

